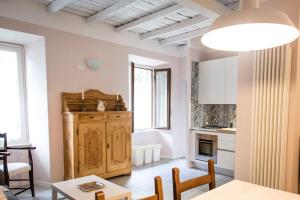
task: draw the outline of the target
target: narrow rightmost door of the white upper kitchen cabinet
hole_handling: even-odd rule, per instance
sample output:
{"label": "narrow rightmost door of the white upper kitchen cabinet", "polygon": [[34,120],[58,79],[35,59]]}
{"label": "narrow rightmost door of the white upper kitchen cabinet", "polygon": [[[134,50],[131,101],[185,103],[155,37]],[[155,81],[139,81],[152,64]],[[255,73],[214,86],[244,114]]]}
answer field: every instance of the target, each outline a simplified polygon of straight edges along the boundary
{"label": "narrow rightmost door of the white upper kitchen cabinet", "polygon": [[236,104],[237,101],[238,57],[226,58],[225,103]]}

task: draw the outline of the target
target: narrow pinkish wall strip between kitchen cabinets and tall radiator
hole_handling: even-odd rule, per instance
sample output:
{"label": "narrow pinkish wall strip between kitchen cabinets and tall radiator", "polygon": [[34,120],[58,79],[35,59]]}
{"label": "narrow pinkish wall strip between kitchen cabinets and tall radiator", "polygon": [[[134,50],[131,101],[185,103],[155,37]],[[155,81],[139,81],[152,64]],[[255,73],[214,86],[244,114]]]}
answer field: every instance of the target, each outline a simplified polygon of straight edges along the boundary
{"label": "narrow pinkish wall strip between kitchen cabinets and tall radiator", "polygon": [[234,177],[243,181],[249,181],[250,178],[250,141],[253,86],[252,56],[252,53],[239,54]]}

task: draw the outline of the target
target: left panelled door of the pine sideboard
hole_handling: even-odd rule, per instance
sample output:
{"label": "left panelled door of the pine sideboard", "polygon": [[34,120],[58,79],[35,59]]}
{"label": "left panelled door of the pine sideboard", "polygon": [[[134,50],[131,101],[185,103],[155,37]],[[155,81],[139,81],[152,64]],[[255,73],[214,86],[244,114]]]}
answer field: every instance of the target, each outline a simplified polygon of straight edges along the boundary
{"label": "left panelled door of the pine sideboard", "polygon": [[79,176],[106,172],[105,123],[79,124]]}

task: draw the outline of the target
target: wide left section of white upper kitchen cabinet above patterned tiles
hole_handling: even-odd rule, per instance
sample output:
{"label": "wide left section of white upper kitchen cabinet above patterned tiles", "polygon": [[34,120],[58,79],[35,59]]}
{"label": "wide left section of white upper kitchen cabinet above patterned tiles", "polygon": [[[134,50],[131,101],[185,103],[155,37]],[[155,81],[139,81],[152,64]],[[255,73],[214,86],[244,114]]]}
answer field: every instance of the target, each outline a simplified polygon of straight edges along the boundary
{"label": "wide left section of white upper kitchen cabinet above patterned tiles", "polygon": [[199,64],[199,104],[224,104],[225,71],[224,59]]}

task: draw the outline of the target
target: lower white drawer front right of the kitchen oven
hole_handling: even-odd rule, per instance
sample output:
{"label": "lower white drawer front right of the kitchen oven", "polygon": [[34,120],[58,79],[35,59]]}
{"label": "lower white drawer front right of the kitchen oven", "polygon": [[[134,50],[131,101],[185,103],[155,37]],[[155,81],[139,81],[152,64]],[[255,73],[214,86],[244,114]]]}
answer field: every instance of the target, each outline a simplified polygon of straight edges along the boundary
{"label": "lower white drawer front right of the kitchen oven", "polygon": [[234,152],[218,150],[217,166],[223,169],[234,170]]}

